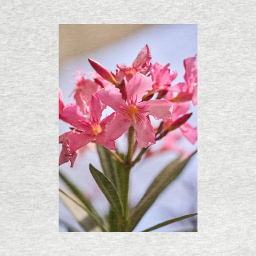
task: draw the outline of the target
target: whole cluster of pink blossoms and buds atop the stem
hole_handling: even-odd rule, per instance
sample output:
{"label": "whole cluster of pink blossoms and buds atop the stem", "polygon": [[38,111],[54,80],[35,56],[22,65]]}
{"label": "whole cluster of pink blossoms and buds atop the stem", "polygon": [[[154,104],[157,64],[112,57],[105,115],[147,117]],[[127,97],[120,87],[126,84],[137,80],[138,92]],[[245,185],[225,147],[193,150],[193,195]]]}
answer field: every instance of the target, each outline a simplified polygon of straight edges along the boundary
{"label": "whole cluster of pink blossoms and buds atop the stem", "polygon": [[[117,64],[115,74],[89,59],[96,73],[87,74],[94,80],[78,70],[74,89],[76,103],[64,105],[59,89],[59,119],[72,125],[71,131],[59,137],[62,143],[59,165],[70,161],[72,167],[78,150],[90,142],[116,150],[115,140],[130,126],[135,129],[140,148],[148,148],[165,137],[163,150],[167,149],[168,140],[173,141],[171,131],[176,128],[191,143],[197,141],[197,128],[187,123],[192,114],[187,114],[190,101],[197,104],[196,58],[184,60],[184,82],[176,85],[171,85],[177,76],[176,70],[171,72],[170,64],[156,62],[153,65],[151,59],[146,45],[131,66]],[[115,112],[102,117],[106,106]],[[150,115],[162,120],[160,126],[152,126]]]}

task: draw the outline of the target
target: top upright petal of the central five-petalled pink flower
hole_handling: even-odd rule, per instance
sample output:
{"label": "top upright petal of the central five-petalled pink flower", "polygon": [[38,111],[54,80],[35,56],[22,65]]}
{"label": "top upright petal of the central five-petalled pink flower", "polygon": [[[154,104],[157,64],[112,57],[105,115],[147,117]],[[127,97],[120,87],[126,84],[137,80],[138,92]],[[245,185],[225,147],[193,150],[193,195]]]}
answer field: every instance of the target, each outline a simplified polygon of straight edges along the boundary
{"label": "top upright petal of the central five-petalled pink flower", "polygon": [[140,102],[152,90],[153,81],[142,74],[135,73],[126,85],[128,104]]}

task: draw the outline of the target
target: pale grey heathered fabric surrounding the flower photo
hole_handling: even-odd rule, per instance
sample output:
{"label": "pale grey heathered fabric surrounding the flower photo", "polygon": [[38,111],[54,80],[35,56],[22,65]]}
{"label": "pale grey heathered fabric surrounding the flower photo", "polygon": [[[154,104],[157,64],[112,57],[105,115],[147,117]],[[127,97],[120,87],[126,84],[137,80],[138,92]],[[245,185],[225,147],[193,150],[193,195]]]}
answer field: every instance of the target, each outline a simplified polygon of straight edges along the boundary
{"label": "pale grey heathered fabric surrounding the flower photo", "polygon": [[[1,255],[254,255],[253,1],[1,4]],[[198,232],[58,232],[58,24],[198,24]]]}

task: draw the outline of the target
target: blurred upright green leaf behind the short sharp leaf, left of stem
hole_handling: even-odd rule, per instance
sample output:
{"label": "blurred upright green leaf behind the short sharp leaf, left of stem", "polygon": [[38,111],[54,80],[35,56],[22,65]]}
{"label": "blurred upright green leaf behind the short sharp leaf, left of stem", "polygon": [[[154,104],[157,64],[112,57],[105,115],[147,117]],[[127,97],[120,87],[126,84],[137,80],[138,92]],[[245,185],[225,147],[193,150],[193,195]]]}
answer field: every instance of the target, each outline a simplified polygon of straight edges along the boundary
{"label": "blurred upright green leaf behind the short sharp leaf, left of stem", "polygon": [[101,163],[104,174],[115,185],[115,187],[117,188],[117,191],[120,191],[117,168],[116,168],[113,156],[108,151],[108,149],[106,149],[102,145],[96,144],[96,146],[97,146],[97,151],[100,157],[100,163]]}

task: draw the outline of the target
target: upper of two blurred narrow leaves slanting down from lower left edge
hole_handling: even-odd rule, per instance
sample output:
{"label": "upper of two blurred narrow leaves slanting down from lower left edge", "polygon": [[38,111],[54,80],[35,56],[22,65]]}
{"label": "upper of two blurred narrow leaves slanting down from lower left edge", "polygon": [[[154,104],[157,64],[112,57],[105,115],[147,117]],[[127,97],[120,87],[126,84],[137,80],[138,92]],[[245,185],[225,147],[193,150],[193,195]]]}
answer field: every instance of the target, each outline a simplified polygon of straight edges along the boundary
{"label": "upper of two blurred narrow leaves slanting down from lower left edge", "polygon": [[[98,215],[98,213],[93,208],[89,200],[85,197],[85,195],[83,195],[82,192],[71,181],[69,181],[68,178],[65,177],[65,175],[63,175],[60,171],[59,176],[67,184],[69,189],[71,189],[71,191],[76,195],[76,197],[78,197],[78,199],[82,202],[83,209],[87,211],[89,216],[91,216],[91,218],[102,228],[104,232],[107,232],[100,215]],[[71,200],[75,201],[73,198],[71,198]],[[80,204],[78,205],[81,206]]]}

